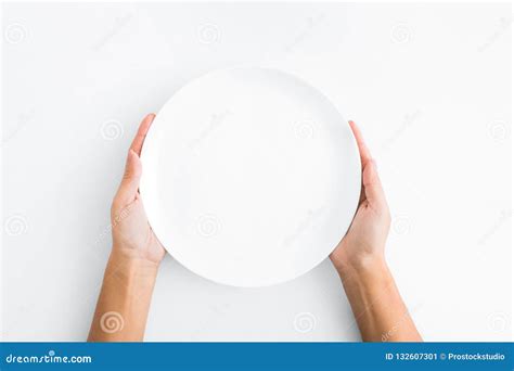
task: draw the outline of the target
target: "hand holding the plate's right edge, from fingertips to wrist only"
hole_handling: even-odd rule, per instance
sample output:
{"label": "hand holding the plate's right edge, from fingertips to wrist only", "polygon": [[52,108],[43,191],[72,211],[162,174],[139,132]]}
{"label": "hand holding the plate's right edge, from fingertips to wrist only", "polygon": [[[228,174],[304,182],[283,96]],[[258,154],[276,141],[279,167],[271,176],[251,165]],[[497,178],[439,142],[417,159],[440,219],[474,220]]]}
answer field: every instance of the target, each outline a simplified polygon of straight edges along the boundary
{"label": "hand holding the plate's right edge, from fingertips to wrist only", "polygon": [[330,258],[339,276],[370,264],[384,261],[384,246],[390,226],[389,207],[376,171],[376,164],[354,121],[349,121],[362,163],[362,189],[357,214],[348,232]]}

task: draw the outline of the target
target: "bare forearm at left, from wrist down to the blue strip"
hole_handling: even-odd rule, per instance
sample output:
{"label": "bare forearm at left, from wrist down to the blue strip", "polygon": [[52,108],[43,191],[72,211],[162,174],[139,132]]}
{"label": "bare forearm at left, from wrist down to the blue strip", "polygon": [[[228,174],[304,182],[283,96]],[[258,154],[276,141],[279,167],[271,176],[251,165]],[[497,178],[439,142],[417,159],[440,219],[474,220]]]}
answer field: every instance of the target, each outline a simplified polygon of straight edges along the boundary
{"label": "bare forearm at left, from wrist down to the blue strip", "polygon": [[141,342],[156,276],[156,264],[112,253],[88,341]]}

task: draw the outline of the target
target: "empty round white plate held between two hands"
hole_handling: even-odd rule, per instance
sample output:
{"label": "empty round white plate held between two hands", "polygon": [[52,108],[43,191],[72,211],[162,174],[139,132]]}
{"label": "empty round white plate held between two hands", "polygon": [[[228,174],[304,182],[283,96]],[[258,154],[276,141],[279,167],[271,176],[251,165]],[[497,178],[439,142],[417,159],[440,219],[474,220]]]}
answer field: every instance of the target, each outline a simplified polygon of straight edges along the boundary
{"label": "empty round white plate held between two hands", "polygon": [[346,233],[359,200],[351,130],[318,90],[266,68],[209,73],[157,114],[141,196],[166,250],[235,286],[294,279]]}

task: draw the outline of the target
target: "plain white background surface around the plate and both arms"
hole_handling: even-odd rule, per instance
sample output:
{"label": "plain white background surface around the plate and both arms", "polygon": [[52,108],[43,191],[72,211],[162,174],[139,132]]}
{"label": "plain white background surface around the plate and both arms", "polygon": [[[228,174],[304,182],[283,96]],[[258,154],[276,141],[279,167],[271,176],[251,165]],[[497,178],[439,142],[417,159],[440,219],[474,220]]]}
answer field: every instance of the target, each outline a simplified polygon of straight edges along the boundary
{"label": "plain white background surface around the plate and both arms", "polygon": [[[426,341],[509,341],[509,4],[3,4],[2,327],[83,341],[140,119],[213,68],[283,68],[362,127]],[[167,257],[147,341],[358,341],[330,261],[233,289]]]}

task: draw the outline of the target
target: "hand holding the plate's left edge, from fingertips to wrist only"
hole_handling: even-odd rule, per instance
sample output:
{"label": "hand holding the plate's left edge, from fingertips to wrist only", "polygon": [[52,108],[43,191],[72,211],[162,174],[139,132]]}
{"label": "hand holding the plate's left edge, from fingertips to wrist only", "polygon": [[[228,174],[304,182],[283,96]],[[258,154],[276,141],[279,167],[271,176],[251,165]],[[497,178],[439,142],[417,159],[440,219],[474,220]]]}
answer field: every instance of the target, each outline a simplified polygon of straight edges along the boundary
{"label": "hand holding the plate's left edge, from fingertips to wrist only", "polygon": [[157,265],[165,250],[149,225],[139,194],[142,165],[139,156],[155,115],[144,117],[130,145],[125,174],[111,207],[112,255],[128,260]]}

